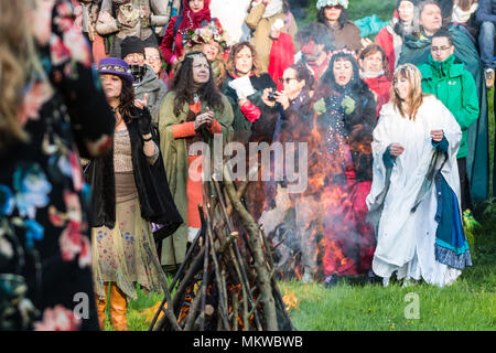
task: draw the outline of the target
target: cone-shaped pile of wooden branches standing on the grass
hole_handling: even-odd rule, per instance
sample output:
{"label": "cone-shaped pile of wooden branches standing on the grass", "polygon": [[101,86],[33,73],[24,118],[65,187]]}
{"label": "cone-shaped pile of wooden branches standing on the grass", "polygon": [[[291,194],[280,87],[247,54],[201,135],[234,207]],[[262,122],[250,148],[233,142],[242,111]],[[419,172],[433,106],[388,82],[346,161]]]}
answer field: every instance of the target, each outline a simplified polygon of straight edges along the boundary
{"label": "cone-shaped pile of wooden branches standing on the grass", "polygon": [[294,330],[276,282],[273,248],[240,199],[248,182],[236,188],[227,170],[223,182],[213,180],[198,205],[202,227],[169,286],[163,276],[165,297],[149,330]]}

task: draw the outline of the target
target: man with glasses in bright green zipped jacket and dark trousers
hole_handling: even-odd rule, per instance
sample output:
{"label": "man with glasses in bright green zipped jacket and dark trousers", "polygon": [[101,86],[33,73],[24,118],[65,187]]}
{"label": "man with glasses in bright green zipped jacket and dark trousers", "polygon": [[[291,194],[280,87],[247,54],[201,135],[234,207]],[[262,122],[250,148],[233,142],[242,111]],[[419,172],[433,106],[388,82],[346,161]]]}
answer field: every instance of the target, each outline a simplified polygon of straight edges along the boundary
{"label": "man with glasses in bright green zipped jacket and dark trousers", "polygon": [[462,141],[456,154],[460,172],[462,211],[472,208],[466,178],[467,131],[478,118],[478,98],[475,81],[464,64],[453,55],[454,45],[446,30],[439,30],[431,42],[429,61],[419,66],[422,92],[436,96],[455,117],[462,129]]}

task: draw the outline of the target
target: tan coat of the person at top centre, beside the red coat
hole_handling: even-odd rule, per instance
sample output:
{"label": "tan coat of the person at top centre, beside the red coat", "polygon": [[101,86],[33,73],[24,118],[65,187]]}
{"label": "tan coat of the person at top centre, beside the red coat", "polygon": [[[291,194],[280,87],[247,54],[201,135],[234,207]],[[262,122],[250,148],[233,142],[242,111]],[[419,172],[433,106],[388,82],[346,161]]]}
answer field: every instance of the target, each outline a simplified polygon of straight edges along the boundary
{"label": "tan coat of the person at top centre, beside the red coat", "polygon": [[266,6],[261,2],[249,10],[248,15],[245,19],[246,24],[254,31],[251,35],[251,44],[255,45],[257,51],[257,56],[261,65],[261,71],[263,73],[269,69],[269,55],[270,49],[272,47],[272,39],[270,38],[270,29],[276,20],[281,19],[284,21],[284,26],[282,32],[289,33],[293,38],[294,52],[300,49],[299,43],[295,41],[295,35],[298,33],[298,25],[294,17],[291,12],[278,13],[270,18],[262,18],[266,11]]}

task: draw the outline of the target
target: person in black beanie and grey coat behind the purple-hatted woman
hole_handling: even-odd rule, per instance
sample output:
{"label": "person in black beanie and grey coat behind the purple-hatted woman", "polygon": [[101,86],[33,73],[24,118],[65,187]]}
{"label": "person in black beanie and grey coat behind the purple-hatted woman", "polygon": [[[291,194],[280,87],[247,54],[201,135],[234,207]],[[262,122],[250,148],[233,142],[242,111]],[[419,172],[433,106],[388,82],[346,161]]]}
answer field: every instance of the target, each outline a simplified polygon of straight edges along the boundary
{"label": "person in black beanie and grey coat behind the purple-hatted woman", "polygon": [[144,99],[152,116],[153,127],[159,127],[159,110],[168,93],[163,81],[159,79],[153,68],[144,63],[144,42],[137,36],[126,38],[120,46],[122,60],[129,65],[134,77],[134,96]]}

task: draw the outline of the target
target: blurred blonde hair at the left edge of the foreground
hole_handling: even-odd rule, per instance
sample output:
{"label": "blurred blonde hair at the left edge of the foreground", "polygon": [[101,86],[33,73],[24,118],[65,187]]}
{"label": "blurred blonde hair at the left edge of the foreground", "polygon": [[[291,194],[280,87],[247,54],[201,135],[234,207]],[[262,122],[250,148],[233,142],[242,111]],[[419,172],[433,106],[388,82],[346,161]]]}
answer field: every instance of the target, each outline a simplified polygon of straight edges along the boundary
{"label": "blurred blonde hair at the left edge of the foreground", "polygon": [[0,0],[0,150],[15,141],[26,141],[20,121],[23,90],[34,74],[42,77],[29,13],[33,0]]}

